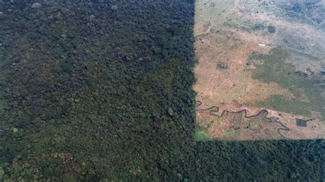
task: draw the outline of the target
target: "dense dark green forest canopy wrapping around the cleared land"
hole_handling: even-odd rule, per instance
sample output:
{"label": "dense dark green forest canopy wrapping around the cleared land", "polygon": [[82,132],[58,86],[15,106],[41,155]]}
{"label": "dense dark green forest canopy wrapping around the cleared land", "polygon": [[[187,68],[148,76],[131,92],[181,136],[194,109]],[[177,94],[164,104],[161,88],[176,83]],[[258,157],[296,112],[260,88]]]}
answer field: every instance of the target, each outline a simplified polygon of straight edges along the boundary
{"label": "dense dark green forest canopy wrapping around the cleared land", "polygon": [[0,181],[322,180],[324,140],[195,142],[194,2],[0,1]]}

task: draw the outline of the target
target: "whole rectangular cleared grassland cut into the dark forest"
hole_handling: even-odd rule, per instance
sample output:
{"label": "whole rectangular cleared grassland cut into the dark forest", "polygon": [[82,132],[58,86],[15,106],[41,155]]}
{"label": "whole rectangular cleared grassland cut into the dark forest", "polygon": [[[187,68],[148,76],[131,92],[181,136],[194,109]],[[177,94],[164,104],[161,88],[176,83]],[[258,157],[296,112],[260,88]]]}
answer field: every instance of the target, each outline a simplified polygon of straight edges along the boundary
{"label": "whole rectangular cleared grassland cut into the dark forest", "polygon": [[[278,2],[196,1],[194,90],[200,108],[217,106],[219,115],[268,109],[278,118],[218,118],[199,109],[198,125],[207,126],[201,120],[209,118],[209,135],[219,140],[325,138],[325,32],[315,24],[324,16],[318,12],[324,3],[298,4],[301,9]],[[306,23],[306,14],[318,18]],[[296,118],[315,120],[301,129]],[[231,127],[236,127],[232,137],[223,138]]]}

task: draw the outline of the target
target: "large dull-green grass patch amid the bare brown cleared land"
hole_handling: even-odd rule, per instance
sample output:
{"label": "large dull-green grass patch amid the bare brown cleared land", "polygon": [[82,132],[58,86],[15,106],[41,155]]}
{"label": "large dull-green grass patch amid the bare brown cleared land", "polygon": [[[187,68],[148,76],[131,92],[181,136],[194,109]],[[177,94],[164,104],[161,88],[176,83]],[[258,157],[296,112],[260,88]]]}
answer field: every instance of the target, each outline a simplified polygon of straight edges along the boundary
{"label": "large dull-green grass patch amid the bare brown cleared land", "polygon": [[[273,49],[269,55],[252,55],[251,60],[264,60],[252,70],[253,79],[260,79],[266,83],[274,81],[282,88],[287,88],[296,99],[288,99],[285,96],[274,95],[257,103],[258,106],[276,109],[291,114],[311,116],[311,111],[325,113],[322,92],[324,88],[320,83],[322,77],[306,76],[297,73],[293,65],[285,62],[289,57],[287,51]],[[302,91],[308,102],[304,101]]]}

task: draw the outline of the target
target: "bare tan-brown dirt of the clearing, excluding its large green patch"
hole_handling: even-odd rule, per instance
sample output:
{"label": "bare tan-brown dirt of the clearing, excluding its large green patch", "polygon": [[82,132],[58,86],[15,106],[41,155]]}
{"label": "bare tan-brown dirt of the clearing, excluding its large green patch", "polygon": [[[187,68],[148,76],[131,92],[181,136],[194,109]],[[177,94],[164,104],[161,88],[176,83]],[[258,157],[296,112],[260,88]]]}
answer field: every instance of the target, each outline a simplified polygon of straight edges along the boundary
{"label": "bare tan-brown dirt of the clearing, excluding its large green patch", "polygon": [[[320,61],[302,62],[301,57],[287,61],[296,70],[304,71],[308,66],[313,71],[320,71],[325,57],[324,31],[281,18],[275,5],[271,5],[271,9],[274,8],[271,11],[252,2],[255,1],[197,0],[195,3],[198,63],[195,67],[197,83],[193,89],[197,92],[197,124],[219,140],[325,138],[324,114],[317,113],[317,117],[308,118],[257,107],[256,102],[272,95],[289,99],[295,96],[278,83],[252,79],[254,64],[248,65],[253,53],[267,54],[276,47],[296,53],[297,49],[291,45],[294,41],[283,42],[283,36],[289,35],[312,45],[312,48],[304,45],[298,48],[317,55]],[[276,27],[276,34],[267,29],[252,28],[258,23]],[[309,34],[302,39],[294,32]],[[296,125],[297,118],[307,120],[306,127]]]}

